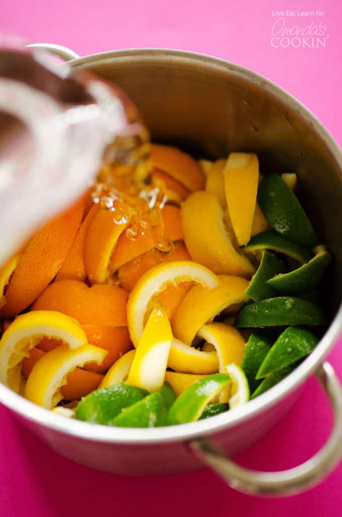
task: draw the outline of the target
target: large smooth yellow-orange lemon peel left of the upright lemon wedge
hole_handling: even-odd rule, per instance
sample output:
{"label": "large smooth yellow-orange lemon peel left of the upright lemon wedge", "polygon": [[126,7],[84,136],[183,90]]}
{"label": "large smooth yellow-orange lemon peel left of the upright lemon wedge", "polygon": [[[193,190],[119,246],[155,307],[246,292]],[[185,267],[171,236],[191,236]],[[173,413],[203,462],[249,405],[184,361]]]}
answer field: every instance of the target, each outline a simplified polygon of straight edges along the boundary
{"label": "large smooth yellow-orange lemon peel left of the upright lemon wedge", "polygon": [[192,259],[214,273],[250,278],[254,268],[232,244],[224,225],[224,211],[214,194],[190,194],[181,205],[181,221],[186,248]]}

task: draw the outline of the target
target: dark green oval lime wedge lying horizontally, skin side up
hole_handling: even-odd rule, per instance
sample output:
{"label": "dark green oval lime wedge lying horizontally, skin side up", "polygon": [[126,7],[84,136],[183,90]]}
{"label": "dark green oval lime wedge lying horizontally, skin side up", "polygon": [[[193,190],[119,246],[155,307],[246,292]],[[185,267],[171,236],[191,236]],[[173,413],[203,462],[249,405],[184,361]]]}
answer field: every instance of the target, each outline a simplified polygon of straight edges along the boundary
{"label": "dark green oval lime wedge lying horizontally, skin side up", "polygon": [[301,298],[277,296],[255,301],[238,313],[236,327],[277,327],[324,325],[327,320],[319,307]]}

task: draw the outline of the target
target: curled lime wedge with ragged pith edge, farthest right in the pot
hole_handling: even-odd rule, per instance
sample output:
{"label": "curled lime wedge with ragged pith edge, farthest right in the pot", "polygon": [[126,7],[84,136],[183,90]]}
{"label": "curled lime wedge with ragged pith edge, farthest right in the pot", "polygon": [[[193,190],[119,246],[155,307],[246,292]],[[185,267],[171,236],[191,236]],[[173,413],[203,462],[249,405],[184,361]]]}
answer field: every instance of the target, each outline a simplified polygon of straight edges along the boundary
{"label": "curled lime wedge with ragged pith edge, farthest right in the pot", "polygon": [[298,294],[317,287],[331,255],[325,246],[317,246],[314,251],[316,254],[309,262],[289,273],[279,271],[274,278],[267,280],[267,285],[283,294]]}

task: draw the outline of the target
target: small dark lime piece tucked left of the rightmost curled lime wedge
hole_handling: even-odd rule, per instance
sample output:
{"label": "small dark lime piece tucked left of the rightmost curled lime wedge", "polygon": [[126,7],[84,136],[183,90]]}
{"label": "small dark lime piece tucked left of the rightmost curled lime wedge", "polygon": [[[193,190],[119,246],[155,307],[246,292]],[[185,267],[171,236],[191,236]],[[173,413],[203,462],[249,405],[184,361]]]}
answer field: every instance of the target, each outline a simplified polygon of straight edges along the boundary
{"label": "small dark lime piece tucked left of the rightmost curled lime wedge", "polygon": [[274,290],[267,281],[285,271],[286,267],[281,258],[267,250],[262,250],[260,265],[245,291],[246,295],[254,301],[276,296],[277,291]]}

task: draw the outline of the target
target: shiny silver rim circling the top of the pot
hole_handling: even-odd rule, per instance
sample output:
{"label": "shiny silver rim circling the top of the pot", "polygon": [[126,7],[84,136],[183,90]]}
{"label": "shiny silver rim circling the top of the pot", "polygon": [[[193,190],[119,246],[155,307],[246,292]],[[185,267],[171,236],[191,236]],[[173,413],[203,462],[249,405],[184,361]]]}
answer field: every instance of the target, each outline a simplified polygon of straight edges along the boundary
{"label": "shiny silver rim circling the top of the pot", "polygon": [[[90,54],[85,57],[72,59],[69,64],[71,67],[91,63],[108,58],[117,57],[136,57],[150,58],[152,56],[160,56],[166,58],[182,58],[189,62],[198,62],[207,65],[222,68],[227,71],[242,74],[247,81],[257,83],[264,88],[269,88],[271,93],[290,103],[298,113],[300,113],[313,128],[317,131],[324,143],[328,146],[332,155],[336,159],[340,170],[342,171],[342,153],[333,136],[320,123],[317,117],[310,112],[300,101],[286,92],[280,86],[269,81],[262,75],[253,72],[247,68],[241,67],[224,59],[212,57],[206,54],[194,52],[173,50],[173,49],[125,49],[109,52],[101,52]],[[342,175],[342,172],[341,172]],[[315,348],[315,350],[291,372],[283,381],[275,385],[273,388],[263,393],[260,397],[249,401],[246,405],[221,413],[214,417],[199,420],[196,422],[179,424],[163,428],[116,428],[107,427],[105,425],[91,424],[79,420],[69,419],[52,413],[28,400],[25,400],[19,394],[14,393],[7,386],[0,384],[0,402],[11,409],[14,413],[20,415],[26,420],[36,422],[42,426],[48,427],[56,432],[77,436],[80,439],[105,443],[122,443],[131,445],[147,445],[165,442],[175,442],[180,439],[190,440],[202,435],[213,434],[219,431],[228,430],[234,425],[238,425],[256,416],[258,413],[264,412],[266,409],[275,405],[283,397],[289,396],[305,379],[315,372],[322,359],[328,354],[339,333],[342,330],[342,303],[325,332],[323,338]]]}

